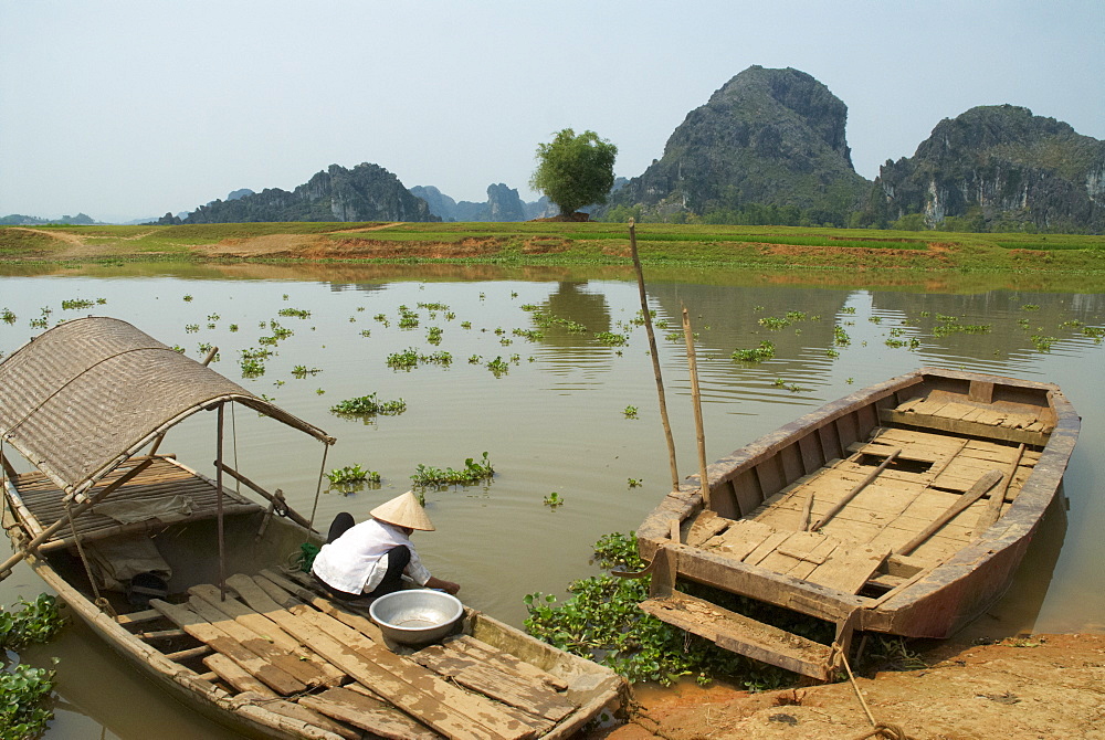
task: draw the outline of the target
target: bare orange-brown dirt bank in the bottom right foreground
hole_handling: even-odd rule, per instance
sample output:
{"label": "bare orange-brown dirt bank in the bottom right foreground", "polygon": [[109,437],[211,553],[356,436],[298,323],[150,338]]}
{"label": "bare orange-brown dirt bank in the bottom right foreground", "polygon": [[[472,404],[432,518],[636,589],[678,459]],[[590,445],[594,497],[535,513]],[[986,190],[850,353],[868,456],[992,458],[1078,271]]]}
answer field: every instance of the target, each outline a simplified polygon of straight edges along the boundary
{"label": "bare orange-brown dirt bank in the bottom right foreground", "polygon": [[[916,740],[1105,738],[1105,635],[943,644],[927,667],[857,678],[876,720]],[[814,740],[872,730],[849,683],[764,694],[723,686],[635,693],[609,740]]]}

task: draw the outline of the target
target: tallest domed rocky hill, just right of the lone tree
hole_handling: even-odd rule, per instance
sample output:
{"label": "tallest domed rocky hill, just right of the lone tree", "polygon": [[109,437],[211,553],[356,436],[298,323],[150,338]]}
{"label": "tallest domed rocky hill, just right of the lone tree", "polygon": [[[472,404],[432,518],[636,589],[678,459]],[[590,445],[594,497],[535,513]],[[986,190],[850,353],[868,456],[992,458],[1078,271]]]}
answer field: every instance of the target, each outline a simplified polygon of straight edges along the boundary
{"label": "tallest domed rocky hill, just right of the lone tree", "polygon": [[664,156],[604,212],[736,218],[774,205],[840,223],[870,190],[852,167],[846,120],[848,106],[804,72],[748,67],[687,114]]}

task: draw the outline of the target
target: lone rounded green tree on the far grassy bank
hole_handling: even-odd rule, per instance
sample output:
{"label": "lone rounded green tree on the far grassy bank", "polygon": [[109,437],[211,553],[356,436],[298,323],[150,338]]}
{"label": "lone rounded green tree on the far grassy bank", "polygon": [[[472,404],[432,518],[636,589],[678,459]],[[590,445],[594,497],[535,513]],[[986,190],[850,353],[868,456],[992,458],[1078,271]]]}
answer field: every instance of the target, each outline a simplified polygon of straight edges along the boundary
{"label": "lone rounded green tree on the far grassy bank", "polygon": [[566,128],[548,144],[537,145],[537,169],[529,186],[548,195],[561,215],[571,215],[585,205],[606,203],[614,184],[618,147],[594,131]]}

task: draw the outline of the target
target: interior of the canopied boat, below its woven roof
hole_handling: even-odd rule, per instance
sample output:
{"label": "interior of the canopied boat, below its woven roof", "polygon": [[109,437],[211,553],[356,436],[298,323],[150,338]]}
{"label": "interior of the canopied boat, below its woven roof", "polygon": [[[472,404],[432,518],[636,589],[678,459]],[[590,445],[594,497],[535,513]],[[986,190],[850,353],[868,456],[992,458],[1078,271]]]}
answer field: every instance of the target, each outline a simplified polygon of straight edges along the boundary
{"label": "interior of the canopied boat, below its woven roof", "polygon": [[[32,533],[65,516],[62,491],[41,473],[9,475],[7,484],[9,506]],[[40,558],[172,670],[315,732],[304,737],[560,737],[617,696],[612,673],[583,669],[581,659],[472,610],[438,643],[386,641],[367,606],[333,601],[286,567],[304,528],[223,494],[225,590],[214,482],[171,456],[75,517]]]}

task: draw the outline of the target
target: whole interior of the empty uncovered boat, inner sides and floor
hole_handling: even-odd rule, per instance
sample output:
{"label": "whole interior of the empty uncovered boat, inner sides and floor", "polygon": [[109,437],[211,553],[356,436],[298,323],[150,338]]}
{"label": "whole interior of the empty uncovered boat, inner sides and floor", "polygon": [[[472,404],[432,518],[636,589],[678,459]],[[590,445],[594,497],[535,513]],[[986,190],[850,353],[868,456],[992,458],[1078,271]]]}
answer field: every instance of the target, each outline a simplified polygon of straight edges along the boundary
{"label": "whole interior of the empty uncovered boat, inner sides and floor", "polygon": [[1044,392],[944,382],[712,480],[684,542],[871,598],[950,558],[1017,499],[1055,419]]}

